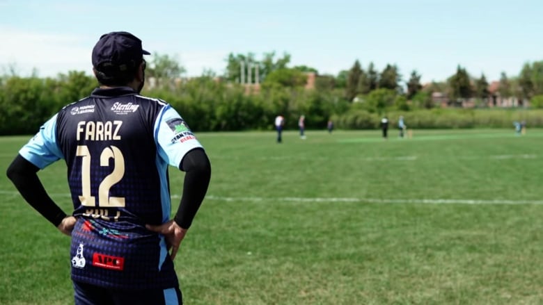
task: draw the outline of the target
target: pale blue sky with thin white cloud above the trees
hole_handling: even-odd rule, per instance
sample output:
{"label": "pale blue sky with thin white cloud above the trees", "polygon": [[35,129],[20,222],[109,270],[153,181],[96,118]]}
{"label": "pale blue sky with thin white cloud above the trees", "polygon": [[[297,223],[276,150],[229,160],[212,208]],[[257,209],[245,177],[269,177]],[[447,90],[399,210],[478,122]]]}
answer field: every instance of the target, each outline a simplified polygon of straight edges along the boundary
{"label": "pale blue sky with thin white cloud above the trees", "polygon": [[[91,74],[103,33],[129,31],[189,76],[223,74],[228,53],[290,53],[290,66],[336,75],[359,60],[404,80],[444,81],[457,65],[489,81],[543,60],[543,0],[0,0],[0,67]],[[1,70],[0,70],[1,72]]]}

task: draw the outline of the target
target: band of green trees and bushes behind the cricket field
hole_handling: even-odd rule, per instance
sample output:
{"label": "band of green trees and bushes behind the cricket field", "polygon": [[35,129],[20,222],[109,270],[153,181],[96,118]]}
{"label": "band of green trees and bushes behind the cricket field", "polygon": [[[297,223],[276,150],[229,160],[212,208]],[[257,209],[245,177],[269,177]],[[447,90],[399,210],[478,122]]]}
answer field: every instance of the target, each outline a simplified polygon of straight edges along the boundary
{"label": "band of green trees and bushes behind the cricket field", "polygon": [[[289,63],[288,53],[265,53],[260,60],[252,53],[230,53],[223,75],[205,71],[184,78],[185,69],[175,58],[155,53],[148,60],[148,85],[142,93],[168,101],[195,131],[269,130],[278,114],[292,129],[302,114],[308,129],[324,129],[329,119],[341,129],[372,129],[383,115],[392,122],[404,115],[412,128],[510,127],[512,120],[543,126],[540,111],[532,109],[543,108],[543,61],[526,63],[519,76],[502,73],[498,93],[530,101],[530,109],[517,110],[485,110],[490,94],[485,75],[473,78],[460,66],[446,81],[423,86],[418,72],[404,81],[396,65],[378,71],[373,63],[363,67],[355,60],[333,76]],[[308,72],[315,74],[311,90],[305,88]],[[78,71],[47,78],[5,74],[0,77],[0,134],[34,133],[61,107],[88,96],[96,86],[93,76]],[[436,91],[453,101],[480,102],[475,109],[441,109],[432,100]]]}

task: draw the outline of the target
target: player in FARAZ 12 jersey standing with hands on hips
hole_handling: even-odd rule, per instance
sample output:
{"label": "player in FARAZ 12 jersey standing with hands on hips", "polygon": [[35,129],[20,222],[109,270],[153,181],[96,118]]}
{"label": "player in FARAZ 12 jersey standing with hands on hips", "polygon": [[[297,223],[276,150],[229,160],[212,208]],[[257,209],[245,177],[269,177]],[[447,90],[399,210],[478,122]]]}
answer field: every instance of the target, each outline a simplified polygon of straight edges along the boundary
{"label": "player in FARAZ 12 jersey standing with hands on hips", "polygon": [[[102,35],[92,52],[100,87],[45,122],[8,168],[22,197],[72,238],[75,304],[182,304],[173,260],[205,197],[211,165],[175,109],[140,95],[145,54],[130,33]],[[61,159],[70,213],[36,174]],[[185,172],[173,219],[168,166]]]}

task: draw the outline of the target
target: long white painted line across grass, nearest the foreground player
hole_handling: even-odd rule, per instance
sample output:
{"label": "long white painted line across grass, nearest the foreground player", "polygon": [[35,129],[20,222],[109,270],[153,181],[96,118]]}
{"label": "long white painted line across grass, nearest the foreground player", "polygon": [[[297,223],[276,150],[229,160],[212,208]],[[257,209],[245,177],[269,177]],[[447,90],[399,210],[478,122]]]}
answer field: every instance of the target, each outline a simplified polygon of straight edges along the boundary
{"label": "long white painted line across grass, nearest the foreground player", "polygon": [[[12,190],[0,190],[1,195],[18,196]],[[49,194],[52,197],[70,197],[68,193]],[[180,195],[171,195],[172,199],[180,199]],[[222,197],[207,195],[204,200],[214,201],[251,201],[251,202],[360,202],[366,204],[543,204],[543,200],[509,200],[509,199],[393,199],[393,198],[354,198],[354,197]]]}

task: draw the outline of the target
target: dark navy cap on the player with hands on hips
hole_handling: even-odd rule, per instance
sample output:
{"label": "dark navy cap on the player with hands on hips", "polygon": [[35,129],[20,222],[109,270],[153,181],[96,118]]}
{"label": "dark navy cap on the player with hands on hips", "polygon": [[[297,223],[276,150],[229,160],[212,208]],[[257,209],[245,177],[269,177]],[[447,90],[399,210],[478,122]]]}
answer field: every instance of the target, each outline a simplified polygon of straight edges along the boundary
{"label": "dark navy cap on the player with hands on hips", "polygon": [[93,67],[101,72],[124,72],[137,67],[143,55],[141,40],[128,32],[104,34],[93,48]]}

